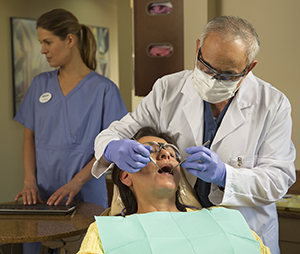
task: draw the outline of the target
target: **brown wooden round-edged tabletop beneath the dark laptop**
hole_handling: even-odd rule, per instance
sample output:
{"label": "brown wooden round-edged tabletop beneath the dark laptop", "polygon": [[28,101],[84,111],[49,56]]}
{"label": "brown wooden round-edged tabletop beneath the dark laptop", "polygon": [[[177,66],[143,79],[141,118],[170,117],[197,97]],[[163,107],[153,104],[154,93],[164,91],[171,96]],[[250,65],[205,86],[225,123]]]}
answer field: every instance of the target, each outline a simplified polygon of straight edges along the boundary
{"label": "brown wooden round-edged tabletop beneath the dark laptop", "polygon": [[0,215],[0,243],[42,242],[86,232],[105,209],[94,203],[80,202],[68,215]]}

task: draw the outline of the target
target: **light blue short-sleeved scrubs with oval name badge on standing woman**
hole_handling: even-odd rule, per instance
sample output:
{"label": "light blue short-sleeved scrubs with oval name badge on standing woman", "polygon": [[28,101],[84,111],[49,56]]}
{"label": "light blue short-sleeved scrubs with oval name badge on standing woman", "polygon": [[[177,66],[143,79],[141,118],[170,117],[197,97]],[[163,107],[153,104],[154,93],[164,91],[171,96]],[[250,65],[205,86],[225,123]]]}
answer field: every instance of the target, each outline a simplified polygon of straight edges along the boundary
{"label": "light blue short-sleeved scrubs with oval name badge on standing woman", "polygon": [[[34,131],[42,199],[68,183],[93,158],[95,137],[127,113],[118,87],[108,78],[91,71],[64,96],[57,74],[55,70],[33,79],[15,117]],[[107,208],[105,176],[88,181],[75,199]]]}

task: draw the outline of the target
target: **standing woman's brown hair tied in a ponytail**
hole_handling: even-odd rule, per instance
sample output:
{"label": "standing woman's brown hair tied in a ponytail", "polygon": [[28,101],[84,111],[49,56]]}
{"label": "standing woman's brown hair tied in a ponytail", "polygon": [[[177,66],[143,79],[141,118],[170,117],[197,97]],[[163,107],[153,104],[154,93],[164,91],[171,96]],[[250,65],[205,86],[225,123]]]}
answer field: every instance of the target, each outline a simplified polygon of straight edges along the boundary
{"label": "standing woman's brown hair tied in a ponytail", "polygon": [[96,70],[96,39],[86,25],[79,24],[73,13],[64,9],[46,12],[37,20],[36,28],[39,27],[52,32],[61,40],[65,40],[68,34],[76,36],[83,62],[90,69]]}

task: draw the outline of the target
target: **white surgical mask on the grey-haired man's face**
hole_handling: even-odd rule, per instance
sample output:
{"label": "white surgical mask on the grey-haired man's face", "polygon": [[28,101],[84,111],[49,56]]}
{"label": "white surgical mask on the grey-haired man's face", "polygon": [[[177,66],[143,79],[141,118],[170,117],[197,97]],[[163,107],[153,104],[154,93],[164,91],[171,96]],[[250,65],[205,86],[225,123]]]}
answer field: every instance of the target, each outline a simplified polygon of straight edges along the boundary
{"label": "white surgical mask on the grey-haired man's face", "polygon": [[197,67],[194,68],[194,88],[199,96],[209,103],[219,103],[233,97],[240,81],[218,81]]}

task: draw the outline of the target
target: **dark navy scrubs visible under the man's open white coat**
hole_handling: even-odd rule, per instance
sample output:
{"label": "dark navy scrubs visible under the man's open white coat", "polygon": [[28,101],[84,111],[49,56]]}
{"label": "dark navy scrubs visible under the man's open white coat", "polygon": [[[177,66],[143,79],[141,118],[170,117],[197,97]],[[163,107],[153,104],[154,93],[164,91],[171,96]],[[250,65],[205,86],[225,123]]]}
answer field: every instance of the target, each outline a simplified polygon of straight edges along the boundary
{"label": "dark navy scrubs visible under the man's open white coat", "polygon": [[[206,145],[206,147],[210,148],[215,135],[218,131],[219,126],[226,114],[226,111],[233,100],[232,97],[229,102],[226,104],[225,108],[222,110],[221,114],[217,119],[214,119],[210,103],[207,101],[203,101],[204,103],[204,131],[203,131],[203,143],[210,140],[210,143]],[[210,185],[211,183],[204,182],[200,178],[197,179],[194,189],[197,193],[199,201],[203,207],[210,207],[213,204],[209,201],[208,195],[210,193]]]}

